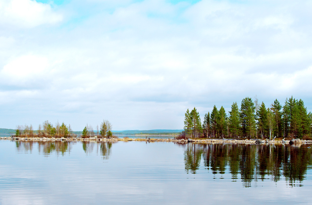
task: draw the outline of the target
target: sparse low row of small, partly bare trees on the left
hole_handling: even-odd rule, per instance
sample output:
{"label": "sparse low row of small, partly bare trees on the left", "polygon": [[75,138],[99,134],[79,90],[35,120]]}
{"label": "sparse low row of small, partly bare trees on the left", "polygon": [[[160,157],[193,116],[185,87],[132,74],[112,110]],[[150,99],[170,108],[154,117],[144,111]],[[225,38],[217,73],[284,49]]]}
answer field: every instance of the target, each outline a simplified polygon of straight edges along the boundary
{"label": "sparse low row of small, partly bare trees on the left", "polygon": [[[103,120],[100,127],[96,126],[97,136],[101,137],[112,137],[112,125],[108,120]],[[81,137],[92,137],[95,136],[96,132],[91,125],[86,125],[82,131]],[[100,135],[99,135],[100,134]],[[48,120],[44,121],[42,124],[39,124],[38,129],[34,130],[32,125],[17,125],[15,136],[22,137],[76,137],[77,135],[72,131],[71,125],[68,126],[63,122],[62,124],[57,121],[53,125]]]}

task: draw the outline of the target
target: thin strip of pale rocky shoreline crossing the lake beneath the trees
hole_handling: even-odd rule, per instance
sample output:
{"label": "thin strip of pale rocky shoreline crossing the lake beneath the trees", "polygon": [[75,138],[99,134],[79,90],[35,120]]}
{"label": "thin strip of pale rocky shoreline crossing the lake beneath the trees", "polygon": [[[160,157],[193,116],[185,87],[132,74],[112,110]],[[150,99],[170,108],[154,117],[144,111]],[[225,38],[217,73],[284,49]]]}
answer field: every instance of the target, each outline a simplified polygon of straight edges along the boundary
{"label": "thin strip of pale rocky shoreline crossing the lake beneath the trees", "polygon": [[116,141],[145,141],[145,142],[180,142],[180,143],[245,143],[245,144],[266,144],[266,143],[280,143],[280,144],[312,144],[312,140],[260,140],[260,139],[142,139],[142,138],[46,138],[46,137],[0,137],[0,139],[8,140],[33,140],[33,141],[105,141],[105,142],[116,142]]}

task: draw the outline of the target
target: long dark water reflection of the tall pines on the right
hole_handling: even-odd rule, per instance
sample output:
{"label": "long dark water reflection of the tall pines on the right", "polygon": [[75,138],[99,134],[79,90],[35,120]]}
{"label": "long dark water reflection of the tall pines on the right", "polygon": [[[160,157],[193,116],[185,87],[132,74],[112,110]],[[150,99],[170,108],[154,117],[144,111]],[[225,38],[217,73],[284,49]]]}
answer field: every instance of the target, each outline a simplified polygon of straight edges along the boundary
{"label": "long dark water reflection of the tall pines on the right", "polygon": [[184,149],[186,171],[196,174],[203,160],[204,166],[213,174],[230,173],[233,181],[241,177],[245,186],[266,178],[277,182],[281,176],[292,186],[305,179],[306,171],[312,165],[311,149],[304,145],[188,143]]}

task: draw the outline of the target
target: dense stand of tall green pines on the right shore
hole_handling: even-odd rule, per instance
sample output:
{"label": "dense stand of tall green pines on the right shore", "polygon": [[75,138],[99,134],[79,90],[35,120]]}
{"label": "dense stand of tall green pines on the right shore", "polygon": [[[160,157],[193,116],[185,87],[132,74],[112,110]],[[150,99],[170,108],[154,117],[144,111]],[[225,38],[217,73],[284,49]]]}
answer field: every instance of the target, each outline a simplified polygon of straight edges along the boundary
{"label": "dense stand of tall green pines on the right shore", "polygon": [[226,113],[223,106],[216,105],[204,115],[203,123],[194,109],[185,113],[184,133],[186,137],[310,137],[312,134],[312,114],[307,112],[303,100],[291,96],[286,98],[282,106],[275,99],[269,106],[246,97],[241,101],[241,107],[233,102],[231,111]]}

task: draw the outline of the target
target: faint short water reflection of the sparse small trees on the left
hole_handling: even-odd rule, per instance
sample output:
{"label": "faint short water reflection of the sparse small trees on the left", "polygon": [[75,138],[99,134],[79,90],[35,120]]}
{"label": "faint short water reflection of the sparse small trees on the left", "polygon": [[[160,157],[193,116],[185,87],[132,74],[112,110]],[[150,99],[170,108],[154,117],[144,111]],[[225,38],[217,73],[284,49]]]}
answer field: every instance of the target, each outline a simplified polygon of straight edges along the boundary
{"label": "faint short water reflection of the sparse small trees on the left", "polygon": [[[56,154],[65,154],[66,152],[71,151],[71,147],[73,144],[77,144],[80,142],[77,141],[16,141],[16,148],[18,152],[32,152],[35,145],[38,145],[38,152],[43,153],[45,155],[50,155],[53,152]],[[97,142],[97,141],[83,141],[82,149],[85,151],[87,155],[91,154],[94,150],[96,150],[97,154],[103,156],[103,159],[108,159],[111,152],[112,143],[114,142]]]}

